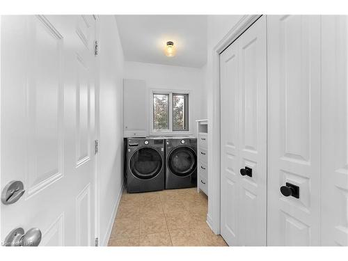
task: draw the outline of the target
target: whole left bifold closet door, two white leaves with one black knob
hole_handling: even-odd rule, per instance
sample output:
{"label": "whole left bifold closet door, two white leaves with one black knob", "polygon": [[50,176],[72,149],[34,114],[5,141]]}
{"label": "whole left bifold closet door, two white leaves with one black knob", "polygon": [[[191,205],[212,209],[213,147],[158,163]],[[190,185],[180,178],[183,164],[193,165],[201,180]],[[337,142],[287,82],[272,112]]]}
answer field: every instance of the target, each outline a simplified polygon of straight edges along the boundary
{"label": "whole left bifold closet door, two white leaves with one black knob", "polygon": [[260,17],[220,57],[221,235],[230,246],[266,245],[266,48]]}

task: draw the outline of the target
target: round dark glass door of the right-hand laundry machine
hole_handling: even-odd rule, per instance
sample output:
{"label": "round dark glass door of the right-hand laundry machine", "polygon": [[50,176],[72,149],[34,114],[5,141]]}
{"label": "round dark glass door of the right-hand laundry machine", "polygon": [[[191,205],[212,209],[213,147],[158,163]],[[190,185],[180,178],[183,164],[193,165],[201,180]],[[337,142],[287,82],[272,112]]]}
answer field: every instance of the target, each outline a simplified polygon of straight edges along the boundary
{"label": "round dark glass door of the right-hand laundry machine", "polygon": [[173,174],[185,177],[196,169],[196,159],[196,152],[191,148],[177,147],[168,157],[168,167]]}

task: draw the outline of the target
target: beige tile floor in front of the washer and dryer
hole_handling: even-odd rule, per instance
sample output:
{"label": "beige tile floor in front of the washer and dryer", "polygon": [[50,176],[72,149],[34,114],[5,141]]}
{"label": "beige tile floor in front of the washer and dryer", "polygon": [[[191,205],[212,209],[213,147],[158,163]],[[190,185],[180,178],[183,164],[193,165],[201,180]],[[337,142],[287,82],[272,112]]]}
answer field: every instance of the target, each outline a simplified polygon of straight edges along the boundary
{"label": "beige tile floor in front of the washer and dryer", "polygon": [[227,246],[205,222],[207,205],[196,188],[124,192],[109,246]]}

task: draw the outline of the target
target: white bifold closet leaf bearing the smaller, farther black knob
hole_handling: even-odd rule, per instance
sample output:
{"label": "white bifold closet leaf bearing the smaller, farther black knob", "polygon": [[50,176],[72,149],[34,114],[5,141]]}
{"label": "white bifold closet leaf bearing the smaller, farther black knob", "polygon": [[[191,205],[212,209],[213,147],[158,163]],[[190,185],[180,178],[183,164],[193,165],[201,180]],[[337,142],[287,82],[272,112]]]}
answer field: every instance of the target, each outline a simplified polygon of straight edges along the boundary
{"label": "white bifold closet leaf bearing the smaller, farther black knob", "polygon": [[[239,52],[239,242],[266,246],[267,47],[262,16],[238,42]],[[251,168],[252,176],[239,169]]]}

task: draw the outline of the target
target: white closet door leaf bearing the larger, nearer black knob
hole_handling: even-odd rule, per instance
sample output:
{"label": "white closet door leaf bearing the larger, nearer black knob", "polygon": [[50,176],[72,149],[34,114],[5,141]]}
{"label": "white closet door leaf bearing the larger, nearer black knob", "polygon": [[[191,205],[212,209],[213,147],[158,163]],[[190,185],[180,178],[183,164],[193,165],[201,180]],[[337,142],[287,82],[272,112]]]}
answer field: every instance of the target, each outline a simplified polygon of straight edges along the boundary
{"label": "white closet door leaf bearing the larger, nearer black knob", "polygon": [[320,244],[320,40],[319,16],[267,16],[269,246]]}

